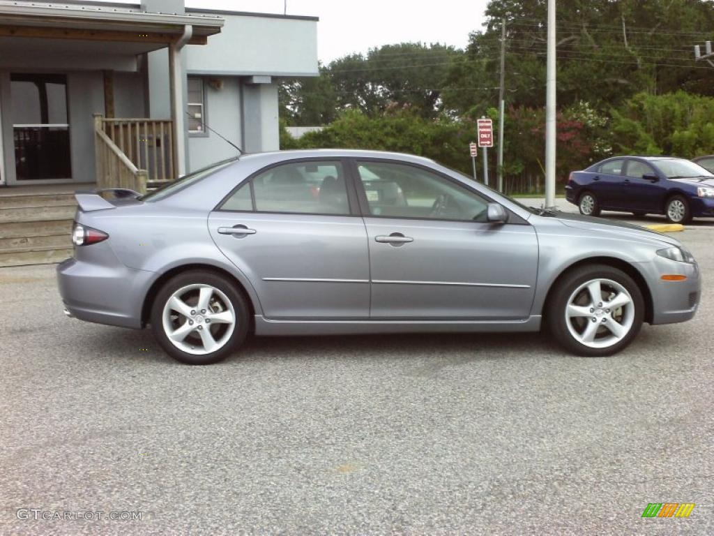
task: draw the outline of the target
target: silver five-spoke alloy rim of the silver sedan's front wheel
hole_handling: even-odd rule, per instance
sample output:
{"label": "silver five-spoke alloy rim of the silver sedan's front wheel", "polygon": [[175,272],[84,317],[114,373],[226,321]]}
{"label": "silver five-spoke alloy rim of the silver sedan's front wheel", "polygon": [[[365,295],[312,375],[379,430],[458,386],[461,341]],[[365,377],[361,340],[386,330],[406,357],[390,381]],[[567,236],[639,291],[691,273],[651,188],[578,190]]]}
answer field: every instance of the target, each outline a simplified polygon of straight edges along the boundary
{"label": "silver five-spoke alloy rim of the silver sedan's front wheel", "polygon": [[590,279],[570,294],[565,324],[575,340],[590,348],[608,348],[633,327],[635,304],[630,293],[612,279]]}

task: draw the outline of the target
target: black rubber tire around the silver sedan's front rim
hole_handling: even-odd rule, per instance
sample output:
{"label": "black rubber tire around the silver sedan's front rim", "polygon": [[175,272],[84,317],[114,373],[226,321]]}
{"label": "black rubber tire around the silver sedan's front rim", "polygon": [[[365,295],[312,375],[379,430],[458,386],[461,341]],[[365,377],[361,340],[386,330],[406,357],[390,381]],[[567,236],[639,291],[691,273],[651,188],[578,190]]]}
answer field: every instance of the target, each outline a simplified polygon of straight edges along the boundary
{"label": "black rubber tire around the silver sedan's front rim", "polygon": [[[583,342],[575,339],[575,336],[570,332],[568,323],[573,322],[571,327],[575,331],[578,331],[578,326],[575,325],[575,322],[585,322],[585,324],[581,325],[583,329],[586,329],[587,323],[591,322],[592,318],[597,317],[598,319],[596,322],[600,322],[600,312],[604,310],[609,312],[609,309],[600,307],[599,309],[595,309],[593,317],[588,316],[583,319],[568,319],[565,317],[568,300],[571,295],[583,284],[594,279],[605,279],[620,284],[620,286],[624,287],[624,289],[630,294],[632,299],[631,304],[634,308],[631,317],[632,324],[629,332],[626,332],[626,334],[619,341],[613,342],[613,344],[607,347],[597,348],[583,344]],[[603,284],[603,290],[606,288],[607,287]],[[578,293],[578,295],[580,295],[580,293]],[[607,307],[606,301],[603,301],[603,304],[604,307]],[[587,306],[585,307],[587,308]],[[617,310],[623,311],[623,309]],[[624,312],[622,314],[624,314]],[[628,274],[625,274],[625,272],[620,269],[613,268],[605,264],[590,264],[575,268],[570,272],[566,272],[560,277],[560,279],[558,279],[558,281],[555,282],[555,288],[553,289],[550,299],[548,299],[548,304],[545,307],[545,316],[548,320],[547,326],[550,329],[550,334],[553,335],[560,346],[573,354],[585,357],[604,357],[620,352],[620,350],[627,347],[628,344],[630,344],[630,342],[637,337],[645,317],[645,301],[642,297],[640,287],[638,287],[638,284],[635,283],[635,281]],[[613,319],[610,319],[610,322],[612,321]],[[598,324],[598,328],[596,329],[598,330],[596,337],[601,337],[600,339],[595,339],[596,341],[600,340],[606,343],[608,337],[613,337],[613,333],[607,329],[606,322]]]}

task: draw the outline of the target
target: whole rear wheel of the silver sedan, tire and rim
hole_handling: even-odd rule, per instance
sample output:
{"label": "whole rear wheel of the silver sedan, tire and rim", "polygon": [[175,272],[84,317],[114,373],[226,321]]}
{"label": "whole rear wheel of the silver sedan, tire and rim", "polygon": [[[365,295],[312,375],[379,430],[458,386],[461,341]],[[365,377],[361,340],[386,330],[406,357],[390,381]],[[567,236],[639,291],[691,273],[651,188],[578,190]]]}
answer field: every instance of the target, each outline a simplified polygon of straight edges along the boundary
{"label": "whole rear wheel of the silver sedan, tire and rim", "polygon": [[248,304],[218,274],[184,272],[169,279],[156,295],[151,329],[174,359],[186,364],[215,363],[246,339]]}

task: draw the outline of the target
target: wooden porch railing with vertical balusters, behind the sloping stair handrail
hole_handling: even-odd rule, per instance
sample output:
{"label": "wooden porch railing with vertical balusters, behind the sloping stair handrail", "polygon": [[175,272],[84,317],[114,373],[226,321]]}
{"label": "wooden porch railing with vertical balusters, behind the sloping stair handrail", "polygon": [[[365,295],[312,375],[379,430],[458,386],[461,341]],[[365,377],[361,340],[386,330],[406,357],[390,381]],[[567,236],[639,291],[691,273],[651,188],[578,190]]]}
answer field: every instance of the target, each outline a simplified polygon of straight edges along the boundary
{"label": "wooden porch railing with vertical balusters, behind the sloping stair handrail", "polygon": [[137,171],[145,170],[149,187],[176,178],[171,119],[106,119],[97,114],[94,129],[98,145],[101,132]]}

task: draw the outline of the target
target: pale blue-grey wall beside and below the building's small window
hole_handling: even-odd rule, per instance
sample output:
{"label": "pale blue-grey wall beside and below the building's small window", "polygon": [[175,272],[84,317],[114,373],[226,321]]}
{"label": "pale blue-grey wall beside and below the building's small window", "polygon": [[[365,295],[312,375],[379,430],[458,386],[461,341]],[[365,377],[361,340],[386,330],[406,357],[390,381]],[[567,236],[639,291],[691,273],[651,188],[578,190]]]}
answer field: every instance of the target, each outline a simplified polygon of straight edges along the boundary
{"label": "pale blue-grey wall beside and below the building's small window", "polygon": [[[208,79],[216,83],[209,84]],[[220,87],[217,89],[213,86]],[[242,147],[241,82],[238,77],[207,77],[204,79],[203,92],[205,104],[203,122],[238,147]],[[191,171],[238,154],[236,149],[218,137],[216,132],[206,129],[205,134],[189,135],[188,161],[191,163]]]}

